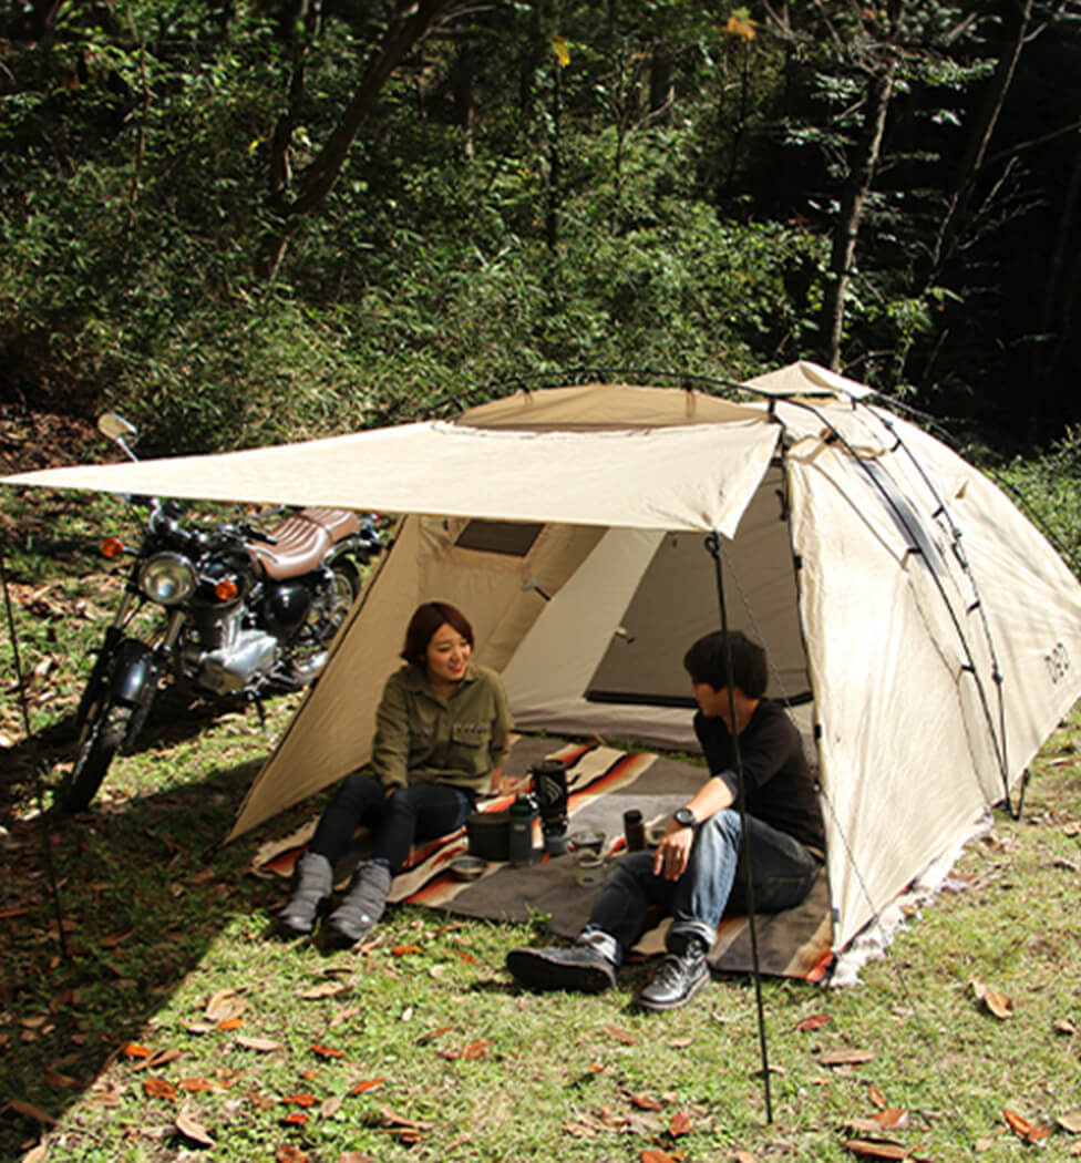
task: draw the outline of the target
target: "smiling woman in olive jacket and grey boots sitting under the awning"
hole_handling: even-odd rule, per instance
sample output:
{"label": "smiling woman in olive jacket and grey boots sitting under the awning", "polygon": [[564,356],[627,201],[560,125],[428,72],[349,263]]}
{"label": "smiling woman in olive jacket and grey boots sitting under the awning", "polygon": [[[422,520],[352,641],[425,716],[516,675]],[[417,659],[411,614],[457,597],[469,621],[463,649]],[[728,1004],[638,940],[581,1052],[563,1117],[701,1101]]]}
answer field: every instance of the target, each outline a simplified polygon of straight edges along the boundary
{"label": "smiling woman in olive jacket and grey boots sitting under the awning", "polygon": [[284,934],[315,928],[358,825],[372,829],[372,856],[325,925],[330,943],[342,947],[382,915],[414,840],[460,828],[478,794],[513,787],[500,771],[511,728],[503,684],[472,652],[473,627],[460,609],[444,601],[417,607],[401,652],[406,664],[387,679],[375,713],[371,763],[342,782],[298,861],[292,896],[278,913]]}

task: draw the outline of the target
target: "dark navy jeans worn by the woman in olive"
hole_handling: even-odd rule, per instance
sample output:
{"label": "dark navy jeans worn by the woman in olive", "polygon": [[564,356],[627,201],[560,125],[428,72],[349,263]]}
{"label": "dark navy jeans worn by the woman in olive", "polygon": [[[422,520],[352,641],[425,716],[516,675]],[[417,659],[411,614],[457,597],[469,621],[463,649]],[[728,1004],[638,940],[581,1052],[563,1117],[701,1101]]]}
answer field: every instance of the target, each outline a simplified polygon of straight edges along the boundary
{"label": "dark navy jeans worn by the woman in olive", "polygon": [[414,784],[387,795],[374,776],[346,776],[323,809],[308,850],[334,866],[349,851],[358,825],[364,825],[372,829],[372,859],[396,876],[414,840],[460,828],[474,806],[472,792],[451,784]]}

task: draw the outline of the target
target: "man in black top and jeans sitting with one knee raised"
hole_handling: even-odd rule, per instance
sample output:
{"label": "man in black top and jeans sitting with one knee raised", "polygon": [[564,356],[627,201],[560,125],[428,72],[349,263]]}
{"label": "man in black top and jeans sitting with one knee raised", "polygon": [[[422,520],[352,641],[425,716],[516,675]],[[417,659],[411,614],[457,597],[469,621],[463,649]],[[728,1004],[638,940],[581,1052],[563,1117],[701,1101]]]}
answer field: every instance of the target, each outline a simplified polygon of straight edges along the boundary
{"label": "man in black top and jeans sitting with one knee raised", "polygon": [[[731,656],[731,672],[729,672]],[[739,740],[756,912],[797,905],[822,862],[822,813],[800,734],[783,707],[764,698],[766,654],[746,635],[707,634],[687,651],[699,711],[694,729],[710,777],[675,812],[654,852],[624,856],[570,949],[513,949],[507,968],[536,990],[600,992],[657,906],[672,918],[667,954],[638,1004],[686,1005],[709,980],[707,954],[725,909],[745,911],[743,823],[736,805]],[[735,712],[735,721],[732,714]]]}

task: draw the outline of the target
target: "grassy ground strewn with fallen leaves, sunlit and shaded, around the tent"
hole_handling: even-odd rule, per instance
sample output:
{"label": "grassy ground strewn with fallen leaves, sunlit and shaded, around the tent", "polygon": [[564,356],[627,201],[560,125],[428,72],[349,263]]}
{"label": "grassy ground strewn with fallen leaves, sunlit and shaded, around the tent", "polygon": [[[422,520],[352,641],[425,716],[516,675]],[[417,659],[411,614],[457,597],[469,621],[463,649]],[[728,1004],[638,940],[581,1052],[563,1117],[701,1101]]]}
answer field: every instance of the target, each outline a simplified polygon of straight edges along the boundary
{"label": "grassy ground strewn with fallen leaves, sunlit and shaded, around the tent", "polygon": [[[540,916],[396,908],[363,952],[272,939],[284,885],[251,861],[313,806],[216,847],[267,750],[252,713],[163,704],[88,812],[41,815],[35,772],[66,762],[115,586],[78,545],[108,515],[96,504],[69,513],[78,536],[58,511],[7,557],[36,741],[5,647],[0,1157],[763,1163],[889,1140],[912,1158],[1004,1161],[1026,1148],[1004,1111],[1046,1130],[1051,1157],[1081,1155],[1058,1125],[1081,1108],[1076,712],[1036,761],[1022,820],[966,850],[859,985],[763,983],[767,1123],[745,978],[651,1016],[632,1007],[647,966],[599,998],[520,991],[503,958],[545,940]],[[294,706],[270,707],[271,735]],[[824,1061],[844,1049],[872,1057]],[[867,1122],[883,1111],[896,1127]]]}

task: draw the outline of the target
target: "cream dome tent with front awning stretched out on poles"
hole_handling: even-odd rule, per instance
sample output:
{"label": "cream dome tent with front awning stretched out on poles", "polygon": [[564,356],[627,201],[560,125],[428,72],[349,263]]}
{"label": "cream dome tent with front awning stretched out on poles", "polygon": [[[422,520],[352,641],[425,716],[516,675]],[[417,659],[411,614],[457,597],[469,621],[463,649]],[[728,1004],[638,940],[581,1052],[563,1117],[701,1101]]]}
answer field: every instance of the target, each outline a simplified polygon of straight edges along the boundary
{"label": "cream dome tent with front awning stretched out on poles", "polygon": [[1081,694],[1081,585],[866,387],[800,363],[745,388],[520,391],[454,421],[7,483],[405,514],[231,836],[365,761],[418,601],[470,614],[520,729],[693,748],[681,658],[723,594],[816,747],[840,949],[1009,800]]}

